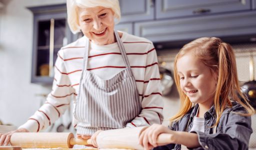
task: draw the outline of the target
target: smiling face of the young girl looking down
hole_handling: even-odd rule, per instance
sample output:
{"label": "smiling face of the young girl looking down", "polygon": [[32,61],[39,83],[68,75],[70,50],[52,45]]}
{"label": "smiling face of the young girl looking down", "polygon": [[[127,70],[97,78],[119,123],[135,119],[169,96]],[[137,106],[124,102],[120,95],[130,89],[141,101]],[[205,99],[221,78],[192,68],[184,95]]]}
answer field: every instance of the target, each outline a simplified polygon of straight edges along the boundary
{"label": "smiling face of the young girl looking down", "polygon": [[212,73],[190,51],[177,59],[180,87],[191,102],[210,106],[216,90],[217,73]]}

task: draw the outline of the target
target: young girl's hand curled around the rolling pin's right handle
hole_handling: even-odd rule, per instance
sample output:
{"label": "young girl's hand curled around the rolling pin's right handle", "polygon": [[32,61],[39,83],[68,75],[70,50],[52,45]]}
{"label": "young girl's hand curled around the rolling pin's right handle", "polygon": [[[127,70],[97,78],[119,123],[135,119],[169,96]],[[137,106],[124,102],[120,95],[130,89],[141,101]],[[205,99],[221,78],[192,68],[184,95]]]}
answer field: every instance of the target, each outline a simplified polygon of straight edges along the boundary
{"label": "young girl's hand curled around the rolling pin's right handle", "polygon": [[[174,135],[175,131],[170,130],[169,128],[160,124],[153,124],[141,132],[138,138],[139,144],[141,144],[144,147],[144,149],[152,149],[153,147],[156,147],[159,145],[168,144],[168,143],[161,143],[161,144],[157,143],[157,137],[160,133],[168,133],[168,134]],[[170,139],[170,143],[173,143],[173,142],[174,142],[174,139]]]}

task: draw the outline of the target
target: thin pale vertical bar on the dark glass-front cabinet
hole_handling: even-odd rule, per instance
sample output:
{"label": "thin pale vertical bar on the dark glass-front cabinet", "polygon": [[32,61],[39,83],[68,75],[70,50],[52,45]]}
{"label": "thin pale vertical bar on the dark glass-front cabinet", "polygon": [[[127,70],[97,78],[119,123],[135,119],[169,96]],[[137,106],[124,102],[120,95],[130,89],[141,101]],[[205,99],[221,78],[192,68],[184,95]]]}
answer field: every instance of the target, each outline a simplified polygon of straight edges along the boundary
{"label": "thin pale vertical bar on the dark glass-front cabinet", "polygon": [[50,19],[49,76],[53,76],[54,19]]}

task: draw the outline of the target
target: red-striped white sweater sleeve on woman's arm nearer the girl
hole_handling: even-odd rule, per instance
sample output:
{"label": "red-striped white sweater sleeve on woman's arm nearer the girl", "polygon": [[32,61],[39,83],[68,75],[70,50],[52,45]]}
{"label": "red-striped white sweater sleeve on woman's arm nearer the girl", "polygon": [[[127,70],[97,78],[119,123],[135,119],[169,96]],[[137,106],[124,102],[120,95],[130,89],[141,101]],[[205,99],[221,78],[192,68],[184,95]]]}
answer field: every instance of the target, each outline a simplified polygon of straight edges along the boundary
{"label": "red-striped white sweater sleeve on woman's arm nearer the girl", "polygon": [[126,127],[148,126],[162,121],[163,101],[160,90],[160,75],[157,65],[157,55],[151,43],[148,46],[146,68],[144,74],[142,110]]}

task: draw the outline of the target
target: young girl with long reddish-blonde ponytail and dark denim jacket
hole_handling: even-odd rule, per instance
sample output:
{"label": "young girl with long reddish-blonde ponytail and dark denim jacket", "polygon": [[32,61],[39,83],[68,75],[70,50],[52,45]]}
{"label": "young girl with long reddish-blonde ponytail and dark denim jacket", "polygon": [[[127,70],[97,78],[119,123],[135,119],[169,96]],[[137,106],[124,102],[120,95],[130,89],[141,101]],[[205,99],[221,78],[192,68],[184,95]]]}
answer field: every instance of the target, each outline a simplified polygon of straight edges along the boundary
{"label": "young girl with long reddish-blonde ponytail and dark denim jacket", "polygon": [[[169,128],[153,124],[140,134],[144,149],[248,149],[254,109],[241,93],[229,44],[216,37],[187,43],[175,57],[174,78],[180,110]],[[171,135],[168,143],[157,144],[160,133]]]}

